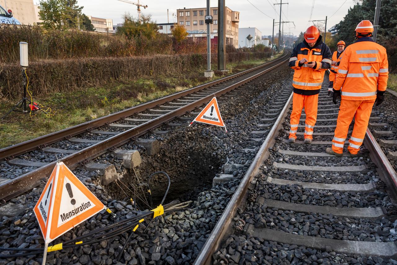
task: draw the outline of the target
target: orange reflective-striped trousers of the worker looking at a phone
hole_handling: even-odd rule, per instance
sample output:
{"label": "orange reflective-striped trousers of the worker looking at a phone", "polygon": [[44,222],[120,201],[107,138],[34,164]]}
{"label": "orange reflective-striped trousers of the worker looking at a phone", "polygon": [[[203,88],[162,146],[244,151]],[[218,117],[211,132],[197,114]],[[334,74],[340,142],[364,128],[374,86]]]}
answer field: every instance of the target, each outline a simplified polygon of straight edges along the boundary
{"label": "orange reflective-striped trousers of the worker looking at a phone", "polygon": [[289,138],[297,139],[296,133],[302,109],[304,108],[304,113],[306,114],[304,139],[313,139],[313,128],[317,120],[317,104],[318,94],[307,96],[294,93],[292,98],[292,112],[290,120],[291,129],[289,130]]}

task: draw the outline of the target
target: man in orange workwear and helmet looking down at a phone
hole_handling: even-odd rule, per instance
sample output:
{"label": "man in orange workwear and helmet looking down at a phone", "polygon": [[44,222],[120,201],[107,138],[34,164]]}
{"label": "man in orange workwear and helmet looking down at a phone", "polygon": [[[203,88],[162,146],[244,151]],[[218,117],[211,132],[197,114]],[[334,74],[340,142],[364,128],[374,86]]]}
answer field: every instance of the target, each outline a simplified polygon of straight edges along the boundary
{"label": "man in orange workwear and helmet looking down at a phone", "polygon": [[304,108],[306,114],[304,142],[311,143],[313,128],[317,120],[318,93],[324,80],[324,73],[331,68],[330,48],[322,42],[317,27],[310,26],[304,33],[304,40],[293,50],[289,66],[295,70],[289,142],[295,143],[299,119]]}

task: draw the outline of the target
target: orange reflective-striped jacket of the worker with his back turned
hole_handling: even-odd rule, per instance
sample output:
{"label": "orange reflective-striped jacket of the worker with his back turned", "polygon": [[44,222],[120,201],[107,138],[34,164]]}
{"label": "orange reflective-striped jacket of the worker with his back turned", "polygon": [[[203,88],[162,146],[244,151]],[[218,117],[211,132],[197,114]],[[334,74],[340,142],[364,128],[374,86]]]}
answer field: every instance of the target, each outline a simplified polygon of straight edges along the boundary
{"label": "orange reflective-striped jacket of the worker with his back turned", "polygon": [[333,89],[341,89],[342,99],[375,100],[376,90],[386,90],[388,68],[386,49],[361,37],[342,54]]}

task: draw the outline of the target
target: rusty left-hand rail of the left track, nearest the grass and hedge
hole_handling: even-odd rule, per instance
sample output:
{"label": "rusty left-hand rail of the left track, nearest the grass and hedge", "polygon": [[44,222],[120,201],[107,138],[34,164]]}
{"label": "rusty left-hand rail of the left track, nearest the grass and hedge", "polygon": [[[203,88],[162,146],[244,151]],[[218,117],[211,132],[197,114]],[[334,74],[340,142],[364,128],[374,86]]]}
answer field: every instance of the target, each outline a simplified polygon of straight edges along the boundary
{"label": "rusty left-hand rail of the left track, nearest the grass and hedge", "polygon": [[18,143],[16,145],[11,145],[9,147],[0,149],[0,160],[5,159],[7,157],[14,157],[17,155],[21,155],[23,153],[35,150],[38,147],[44,148],[44,147],[46,147],[46,145],[55,143],[57,141],[61,141],[62,139],[65,139],[66,137],[71,137],[71,136],[77,135],[79,133],[83,133],[87,130],[92,130],[92,129],[98,128],[100,126],[104,126],[107,123],[115,122],[117,120],[120,120],[123,117],[131,116],[133,114],[136,114],[137,112],[143,112],[150,108],[154,108],[156,106],[165,104],[169,101],[173,101],[175,99],[180,99],[181,97],[186,97],[187,95],[198,92],[202,89],[206,89],[208,87],[212,87],[214,85],[224,83],[225,81],[228,81],[230,79],[234,79],[241,75],[248,74],[248,73],[258,70],[260,68],[269,66],[270,64],[274,64],[275,62],[278,62],[279,60],[283,60],[283,58],[285,58],[285,55],[283,55],[282,57],[280,57],[276,60],[272,60],[271,62],[267,62],[266,64],[256,66],[254,68],[251,68],[251,69],[245,70],[243,72],[212,81],[210,83],[199,85],[197,87],[193,87],[193,88],[187,89],[185,91],[181,91],[181,92],[178,92],[178,93],[166,96],[166,97],[162,97],[162,98],[156,99],[154,101],[150,101],[150,102],[143,103],[143,104],[131,107],[131,108],[127,108],[125,110],[121,110],[119,112],[115,112],[115,113],[109,114],[107,116],[97,118],[95,120],[91,120],[88,122],[84,122],[82,124],[78,124],[78,125],[66,128],[64,130],[60,130],[58,132],[49,133],[47,135],[43,135],[43,136],[37,137],[35,139],[31,139],[31,140],[28,140],[28,141],[25,141],[22,143]]}

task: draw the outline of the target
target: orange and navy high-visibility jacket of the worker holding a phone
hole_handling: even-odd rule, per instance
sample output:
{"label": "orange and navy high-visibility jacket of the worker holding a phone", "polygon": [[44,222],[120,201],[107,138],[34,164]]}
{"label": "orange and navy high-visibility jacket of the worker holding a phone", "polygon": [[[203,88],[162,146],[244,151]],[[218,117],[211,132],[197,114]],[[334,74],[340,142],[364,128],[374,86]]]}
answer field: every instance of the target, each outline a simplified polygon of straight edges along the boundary
{"label": "orange and navy high-visibility jacket of the worker holding a phone", "polygon": [[[306,58],[308,62],[316,62],[314,68],[301,65],[300,60]],[[306,41],[299,43],[289,58],[289,66],[295,70],[292,85],[294,93],[301,95],[316,95],[320,92],[324,73],[331,68],[332,54],[327,44],[320,36],[313,48]]]}

